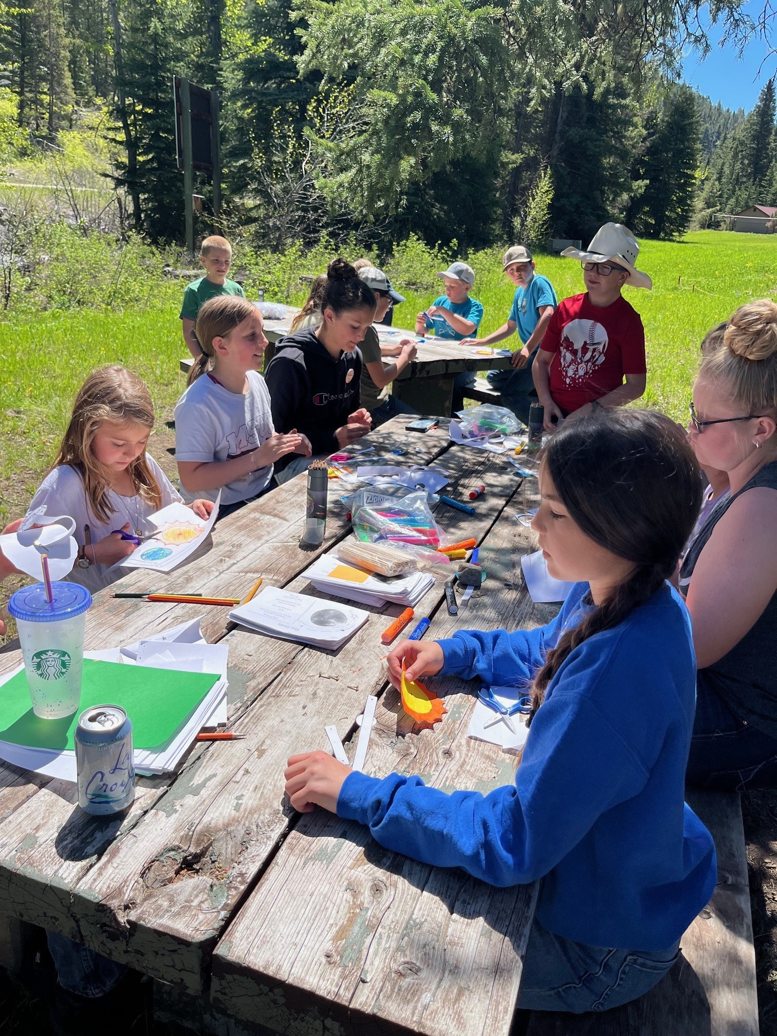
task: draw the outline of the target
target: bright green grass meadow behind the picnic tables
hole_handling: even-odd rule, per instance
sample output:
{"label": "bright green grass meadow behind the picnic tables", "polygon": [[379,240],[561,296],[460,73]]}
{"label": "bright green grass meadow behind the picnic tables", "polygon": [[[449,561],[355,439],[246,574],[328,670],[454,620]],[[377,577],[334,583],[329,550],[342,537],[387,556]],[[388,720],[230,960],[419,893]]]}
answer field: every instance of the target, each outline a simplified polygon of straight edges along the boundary
{"label": "bright green grass meadow behind the picnic tables", "polygon": [[[485,308],[482,333],[487,334],[507,318],[513,288],[501,272],[501,250],[468,258],[478,277],[473,295]],[[559,298],[581,290],[578,263],[557,256],[537,258],[538,269],[550,278]],[[408,270],[407,280],[426,283],[430,290],[403,289],[407,301],[396,309],[396,326],[412,326],[414,314],[438,293],[431,287],[432,271],[444,269],[442,259],[426,255],[423,277]],[[648,337],[648,391],[640,405],[683,421],[704,333],[743,303],[777,293],[777,238],[702,231],[678,242],[645,241],[638,265],[654,282],[653,291],[626,292]],[[390,269],[395,280],[402,280],[396,260]],[[299,270],[317,271],[315,264]],[[170,287],[160,279],[155,307],[49,311],[0,321],[0,521],[23,512],[51,464],[73,397],[93,368],[111,363],[133,368],[151,390],[160,427],[170,419],[183,387],[178,358],[184,354],[177,296]],[[247,289],[251,296],[251,281]],[[288,297],[299,303],[305,294],[292,289]],[[515,347],[517,341],[505,344]]]}

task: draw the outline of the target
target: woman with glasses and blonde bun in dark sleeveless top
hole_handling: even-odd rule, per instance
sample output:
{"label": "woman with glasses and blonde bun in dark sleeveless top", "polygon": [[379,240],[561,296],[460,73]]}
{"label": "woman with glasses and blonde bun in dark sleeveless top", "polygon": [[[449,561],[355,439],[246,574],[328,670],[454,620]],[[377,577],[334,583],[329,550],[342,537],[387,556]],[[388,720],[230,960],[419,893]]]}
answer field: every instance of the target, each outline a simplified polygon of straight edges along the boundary
{"label": "woman with glasses and blonde bun in dark sleeveless top", "polygon": [[740,307],[710,336],[689,437],[730,495],[707,515],[681,568],[698,680],[688,780],[777,786],[777,305]]}

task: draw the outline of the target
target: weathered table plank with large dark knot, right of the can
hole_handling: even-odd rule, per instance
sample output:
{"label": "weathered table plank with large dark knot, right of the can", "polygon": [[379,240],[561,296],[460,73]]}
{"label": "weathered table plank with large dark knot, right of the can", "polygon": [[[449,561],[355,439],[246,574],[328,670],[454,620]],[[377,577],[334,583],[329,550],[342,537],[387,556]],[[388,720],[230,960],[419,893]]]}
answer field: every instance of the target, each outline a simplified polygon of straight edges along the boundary
{"label": "weathered table plank with large dark knot, right of the can", "polygon": [[[489,502],[476,517],[445,514],[455,535],[482,536],[515,492],[515,476],[503,462],[474,451],[452,452],[445,466],[457,491],[487,479]],[[434,605],[440,597],[438,584],[428,598]],[[135,826],[100,845],[96,862],[90,858],[84,867],[66,869],[64,894],[58,889],[53,902],[46,902],[47,926],[73,936],[77,922],[76,938],[92,948],[199,990],[217,936],[288,827],[282,805],[286,757],[295,749],[324,747],[325,723],[336,722],[343,736],[352,728],[367,693],[384,682],[379,634],[386,615],[398,610],[391,606],[371,616],[337,654],[231,633],[230,680],[241,691],[230,712],[247,740],[200,746],[169,789],[153,789],[153,802],[148,800],[149,808],[144,802]],[[64,809],[47,806],[35,845],[21,860],[10,836],[8,855],[0,851],[6,894],[24,903],[30,920],[35,891],[46,869],[56,865],[47,854],[56,847]]]}

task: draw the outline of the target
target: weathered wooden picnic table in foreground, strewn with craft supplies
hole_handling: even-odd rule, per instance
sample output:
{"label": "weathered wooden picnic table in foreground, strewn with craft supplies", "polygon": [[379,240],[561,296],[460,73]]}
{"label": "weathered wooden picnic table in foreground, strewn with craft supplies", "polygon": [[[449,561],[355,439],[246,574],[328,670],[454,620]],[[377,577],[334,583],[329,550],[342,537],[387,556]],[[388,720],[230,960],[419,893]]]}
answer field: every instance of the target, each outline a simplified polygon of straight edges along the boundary
{"label": "weathered wooden picnic table in foreground, strewn with craft supplies", "polygon": [[[406,445],[413,463],[435,460],[454,496],[488,487],[474,516],[438,509],[448,531],[482,543],[488,579],[453,620],[438,576],[415,609],[432,617],[427,635],[547,622],[555,608],[533,605],[520,573],[533,534],[513,517],[533,505],[533,480],[522,484],[501,457],[452,445],[444,428],[413,435],[403,425],[395,419],[363,441]],[[265,584],[323,596],[299,575],[350,535],[336,502],[344,487],[333,481],[330,490],[319,550],[299,547],[303,474],[218,523],[177,571],[154,573],[154,587],[240,596],[262,575]],[[535,887],[500,890],[413,863],[357,825],[320,812],[300,817],[283,794],[287,756],[326,749],[327,723],[348,745],[368,694],[380,700],[367,772],[399,768],[447,788],[512,781],[513,757],[466,740],[471,688],[442,682],[448,716],[418,732],[382,661],[380,633],[398,606],[367,608],[367,625],[326,652],[233,628],[225,608],[112,596],[147,584],[148,573],[136,570],[96,595],[87,646],[130,642],[204,611],[207,639],[229,644],[229,723],[246,740],[193,746],[176,774],[140,778],[135,803],[116,817],[84,814],[71,783],[0,764],[0,910],[180,992],[211,988],[213,1010],[249,1023],[270,1011],[277,1032],[320,1032],[308,1021],[330,1015],[348,1031],[351,1017],[356,1028],[374,1018],[381,1032],[423,1033],[452,1032],[455,1019],[457,1032],[507,1036]],[[20,658],[18,650],[0,655],[0,671]]]}

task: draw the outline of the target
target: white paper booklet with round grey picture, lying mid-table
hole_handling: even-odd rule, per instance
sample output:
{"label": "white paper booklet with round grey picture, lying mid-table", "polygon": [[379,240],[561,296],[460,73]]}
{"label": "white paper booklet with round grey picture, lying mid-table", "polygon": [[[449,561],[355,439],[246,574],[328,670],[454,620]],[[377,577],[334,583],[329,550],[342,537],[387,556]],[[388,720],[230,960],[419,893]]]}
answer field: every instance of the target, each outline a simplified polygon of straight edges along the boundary
{"label": "white paper booklet with round grey picture, lying mid-table", "polygon": [[370,615],[347,604],[334,604],[317,597],[265,586],[248,604],[234,608],[229,617],[271,637],[337,651]]}

